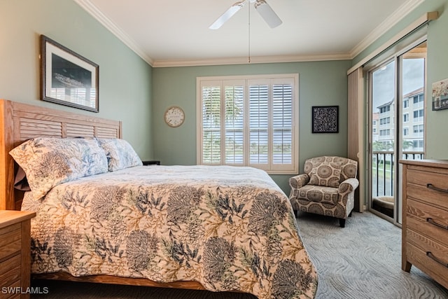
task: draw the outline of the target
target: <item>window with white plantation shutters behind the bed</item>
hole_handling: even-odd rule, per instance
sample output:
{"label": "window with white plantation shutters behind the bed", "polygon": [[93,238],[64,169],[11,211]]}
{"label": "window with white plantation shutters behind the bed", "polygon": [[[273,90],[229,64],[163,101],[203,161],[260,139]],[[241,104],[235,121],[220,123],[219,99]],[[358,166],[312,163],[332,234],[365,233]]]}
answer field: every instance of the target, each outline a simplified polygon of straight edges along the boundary
{"label": "window with white plantation shutters behind the bed", "polygon": [[298,74],[197,78],[197,162],[298,171]]}

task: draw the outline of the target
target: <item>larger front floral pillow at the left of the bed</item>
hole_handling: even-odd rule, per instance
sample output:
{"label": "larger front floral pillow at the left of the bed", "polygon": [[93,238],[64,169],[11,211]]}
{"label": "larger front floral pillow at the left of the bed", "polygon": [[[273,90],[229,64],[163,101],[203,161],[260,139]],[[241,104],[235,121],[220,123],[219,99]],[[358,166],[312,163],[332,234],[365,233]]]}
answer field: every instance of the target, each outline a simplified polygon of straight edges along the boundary
{"label": "larger front floral pillow at the left of the bed", "polygon": [[106,155],[94,139],[34,138],[9,153],[25,171],[35,200],[61,183],[108,171]]}

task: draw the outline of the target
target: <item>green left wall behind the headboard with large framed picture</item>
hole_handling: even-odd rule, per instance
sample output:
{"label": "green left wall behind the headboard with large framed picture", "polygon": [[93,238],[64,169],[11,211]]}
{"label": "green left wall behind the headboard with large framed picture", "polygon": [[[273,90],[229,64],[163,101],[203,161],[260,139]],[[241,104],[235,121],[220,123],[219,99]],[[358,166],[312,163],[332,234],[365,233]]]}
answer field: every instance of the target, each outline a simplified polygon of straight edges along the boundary
{"label": "green left wall behind the headboard with large framed picture", "polygon": [[[123,121],[142,159],[151,146],[152,67],[72,0],[0,0],[0,98]],[[99,64],[99,113],[40,99],[39,36]]]}

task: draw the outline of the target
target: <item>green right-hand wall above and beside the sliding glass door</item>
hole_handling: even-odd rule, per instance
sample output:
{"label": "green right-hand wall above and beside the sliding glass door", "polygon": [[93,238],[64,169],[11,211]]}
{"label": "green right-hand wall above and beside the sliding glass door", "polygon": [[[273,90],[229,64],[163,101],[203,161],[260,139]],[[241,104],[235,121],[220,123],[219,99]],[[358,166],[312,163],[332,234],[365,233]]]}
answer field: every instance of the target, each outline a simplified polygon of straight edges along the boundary
{"label": "green right-hand wall above and beside the sliding glass door", "polygon": [[405,29],[424,13],[438,11],[439,18],[428,25],[428,60],[426,81],[426,158],[448,159],[448,109],[432,111],[431,85],[434,82],[448,78],[448,1],[426,0],[398,22],[391,30],[386,32],[377,41],[372,43],[363,53],[353,59],[353,65],[386,43],[395,34]]}

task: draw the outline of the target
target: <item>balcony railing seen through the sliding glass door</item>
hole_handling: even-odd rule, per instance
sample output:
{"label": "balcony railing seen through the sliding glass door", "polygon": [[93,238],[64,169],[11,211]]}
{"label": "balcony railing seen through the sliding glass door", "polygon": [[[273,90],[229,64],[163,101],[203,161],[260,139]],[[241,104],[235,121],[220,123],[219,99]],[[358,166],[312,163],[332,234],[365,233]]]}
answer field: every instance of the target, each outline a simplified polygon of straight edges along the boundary
{"label": "balcony railing seen through the sliding glass door", "polygon": [[[422,160],[424,153],[406,151],[402,153],[402,159]],[[372,152],[372,197],[393,195],[395,172],[395,153],[393,151]]]}

